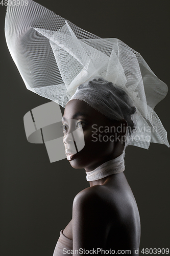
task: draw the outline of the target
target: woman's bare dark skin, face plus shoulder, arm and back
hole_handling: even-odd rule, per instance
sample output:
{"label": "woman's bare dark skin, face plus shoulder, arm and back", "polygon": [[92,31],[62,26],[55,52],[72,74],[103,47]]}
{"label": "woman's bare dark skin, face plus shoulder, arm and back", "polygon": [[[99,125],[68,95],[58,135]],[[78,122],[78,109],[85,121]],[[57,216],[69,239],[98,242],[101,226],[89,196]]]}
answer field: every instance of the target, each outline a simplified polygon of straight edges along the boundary
{"label": "woman's bare dark skin, face plus shoulder, arm and back", "polygon": [[[92,142],[92,125],[103,127],[127,125],[125,120],[114,122],[81,100],[71,100],[64,111],[63,125],[67,126],[64,132],[65,148],[69,147],[69,120],[78,112],[85,115],[77,116],[82,122],[85,140],[84,148],[70,164],[74,168],[85,168],[86,172],[95,169],[102,163],[118,157],[123,153],[122,141],[95,141]],[[104,131],[104,129],[103,129]],[[115,136],[115,132],[102,132],[103,136]],[[118,136],[125,135],[120,131]],[[111,249],[131,250],[139,248],[140,218],[135,198],[126,180],[124,173],[113,174],[100,180],[91,181],[90,187],[82,190],[74,199],[72,220],[65,227],[63,234],[73,240],[73,249]],[[100,255],[100,252],[98,253]],[[121,254],[121,253],[120,253]],[[78,255],[78,254],[77,254]],[[102,255],[102,253],[101,253]],[[108,255],[111,255],[108,254]]]}

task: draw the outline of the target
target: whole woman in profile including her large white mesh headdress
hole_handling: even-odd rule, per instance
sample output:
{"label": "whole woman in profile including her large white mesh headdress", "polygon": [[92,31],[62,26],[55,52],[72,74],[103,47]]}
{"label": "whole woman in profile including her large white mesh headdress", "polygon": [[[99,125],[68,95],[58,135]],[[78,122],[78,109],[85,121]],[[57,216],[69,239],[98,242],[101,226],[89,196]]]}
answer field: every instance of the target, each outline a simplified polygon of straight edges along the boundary
{"label": "whole woman in profile including her large white mesh headdress", "polygon": [[[151,142],[169,146],[154,112],[166,84],[124,42],[92,35],[32,0],[7,7],[5,35],[27,88],[65,108],[67,159],[72,167],[85,168],[90,181],[74,200],[72,221],[61,232],[54,255],[70,255],[64,248],[138,254],[140,221],[123,174],[124,151],[127,145],[149,148]],[[77,112],[85,112],[85,121],[84,116],[77,119]],[[81,125],[85,146],[78,152],[72,134]]]}

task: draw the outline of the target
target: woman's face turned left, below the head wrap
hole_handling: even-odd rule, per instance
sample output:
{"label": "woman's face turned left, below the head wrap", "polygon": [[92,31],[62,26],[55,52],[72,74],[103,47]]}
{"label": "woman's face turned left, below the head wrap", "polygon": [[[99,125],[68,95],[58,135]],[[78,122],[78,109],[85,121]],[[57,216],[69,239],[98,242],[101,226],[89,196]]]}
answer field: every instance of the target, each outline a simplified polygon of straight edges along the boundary
{"label": "woman's face turned left, below the head wrap", "polygon": [[[85,168],[88,172],[122,154],[123,148],[115,147],[117,143],[114,142],[114,122],[110,122],[86,102],[77,99],[69,101],[65,106],[62,122],[65,153],[72,167]],[[75,142],[70,135],[76,129],[83,129],[81,136],[84,135],[85,145],[78,153],[71,153]]]}

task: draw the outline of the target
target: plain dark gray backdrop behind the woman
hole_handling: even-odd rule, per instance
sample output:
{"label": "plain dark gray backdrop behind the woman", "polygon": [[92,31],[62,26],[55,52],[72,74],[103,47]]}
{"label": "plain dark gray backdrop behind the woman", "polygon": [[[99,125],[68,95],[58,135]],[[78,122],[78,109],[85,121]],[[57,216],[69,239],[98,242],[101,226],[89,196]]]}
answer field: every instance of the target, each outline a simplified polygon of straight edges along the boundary
{"label": "plain dark gray backdrop behind the woman", "polygon": [[[37,1],[98,36],[115,37],[140,52],[169,87],[169,1]],[[84,169],[50,163],[45,146],[27,142],[23,116],[49,100],[28,91],[10,56],[1,15],[1,256],[51,256],[71,219],[72,201],[87,187]],[[169,133],[169,98],[155,108]],[[125,175],[141,218],[142,248],[169,246],[169,148],[129,146]],[[142,255],[142,253],[140,254]]]}

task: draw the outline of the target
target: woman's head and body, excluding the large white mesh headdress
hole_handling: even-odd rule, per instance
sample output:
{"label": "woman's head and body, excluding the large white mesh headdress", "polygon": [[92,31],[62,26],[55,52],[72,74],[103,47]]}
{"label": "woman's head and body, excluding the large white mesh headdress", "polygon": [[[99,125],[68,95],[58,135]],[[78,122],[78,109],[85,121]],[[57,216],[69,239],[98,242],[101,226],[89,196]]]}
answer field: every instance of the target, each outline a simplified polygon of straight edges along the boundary
{"label": "woman's head and body, excluding the large white mesh headdress", "polygon": [[[82,89],[81,86],[78,87],[77,94],[85,88],[84,86]],[[86,92],[90,86],[93,86],[93,90],[95,90],[94,87],[98,86],[99,89],[99,86],[102,86],[106,93],[108,86],[113,87],[113,84],[101,78],[97,81],[93,79],[86,83]],[[101,100],[103,97],[105,95],[101,94]],[[113,99],[113,94],[110,97]],[[127,103],[124,102],[124,104]],[[134,113],[133,106],[129,105],[130,108]],[[127,118],[128,123],[130,123],[131,114]],[[80,125],[83,127],[85,146],[79,153],[70,150],[74,147],[74,141],[70,136],[71,129],[74,130],[74,127],[71,127],[71,119],[75,119],[74,124],[77,129]],[[80,255],[83,249],[93,254],[98,251],[99,255],[102,254],[102,250],[103,254],[109,252],[109,255],[121,254],[122,250],[123,253],[127,250],[130,255],[138,254],[139,212],[123,173],[125,135],[129,132],[125,129],[128,125],[127,121],[109,119],[83,100],[72,99],[67,103],[63,115],[63,142],[67,159],[72,167],[85,168],[87,178],[91,181],[90,187],[82,190],[74,199],[72,220],[64,230],[61,230],[61,236],[54,251],[55,256],[62,255],[63,252],[67,252],[66,255],[70,252]],[[98,127],[95,139],[93,138],[94,125]],[[122,131],[117,129],[121,126]],[[133,129],[133,126],[128,127]],[[127,140],[128,138],[126,138],[126,144]],[[101,169],[103,164],[105,167]]]}

